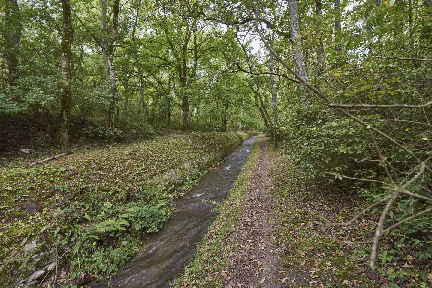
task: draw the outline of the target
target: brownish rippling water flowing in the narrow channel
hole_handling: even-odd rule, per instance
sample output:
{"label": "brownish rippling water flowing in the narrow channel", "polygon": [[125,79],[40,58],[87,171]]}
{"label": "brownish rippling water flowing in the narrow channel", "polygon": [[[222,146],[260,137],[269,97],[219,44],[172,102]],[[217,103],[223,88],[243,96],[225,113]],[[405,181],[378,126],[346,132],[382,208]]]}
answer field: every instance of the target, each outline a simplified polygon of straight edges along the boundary
{"label": "brownish rippling water flowing in the narrow channel", "polygon": [[[169,282],[194,257],[195,248],[216,216],[210,212],[213,205],[203,200],[225,201],[257,137],[250,137],[226,155],[225,161],[217,166],[219,169],[211,169],[191,192],[177,201],[176,212],[166,228],[146,237],[144,244],[150,248],[145,248],[135,261],[112,277],[109,287],[169,288]],[[93,285],[93,288],[106,287],[106,282]]]}

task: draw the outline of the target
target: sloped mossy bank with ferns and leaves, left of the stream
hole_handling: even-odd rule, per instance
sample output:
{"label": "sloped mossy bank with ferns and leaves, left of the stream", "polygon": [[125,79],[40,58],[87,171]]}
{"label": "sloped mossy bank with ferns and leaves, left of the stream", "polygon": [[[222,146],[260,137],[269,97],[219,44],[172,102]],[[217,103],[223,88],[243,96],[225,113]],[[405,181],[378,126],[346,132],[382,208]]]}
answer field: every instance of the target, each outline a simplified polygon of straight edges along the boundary
{"label": "sloped mossy bank with ferns and leaves, left of the stream", "polygon": [[[254,132],[179,133],[0,171],[0,287],[115,274],[172,215],[173,201]],[[57,258],[57,261],[56,261]]]}

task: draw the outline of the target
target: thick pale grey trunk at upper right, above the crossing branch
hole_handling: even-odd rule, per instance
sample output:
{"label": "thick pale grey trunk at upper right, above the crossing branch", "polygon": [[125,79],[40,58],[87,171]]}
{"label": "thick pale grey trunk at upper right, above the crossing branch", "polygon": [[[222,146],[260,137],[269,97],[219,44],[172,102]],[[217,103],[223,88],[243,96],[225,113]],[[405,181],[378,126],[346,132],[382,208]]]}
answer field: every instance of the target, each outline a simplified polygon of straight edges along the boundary
{"label": "thick pale grey trunk at upper right, above the crossing branch", "polygon": [[299,11],[297,0],[288,0],[289,24],[292,41],[292,57],[294,58],[295,72],[306,82],[309,82],[308,71],[306,70],[305,57],[303,55],[303,43],[300,37]]}

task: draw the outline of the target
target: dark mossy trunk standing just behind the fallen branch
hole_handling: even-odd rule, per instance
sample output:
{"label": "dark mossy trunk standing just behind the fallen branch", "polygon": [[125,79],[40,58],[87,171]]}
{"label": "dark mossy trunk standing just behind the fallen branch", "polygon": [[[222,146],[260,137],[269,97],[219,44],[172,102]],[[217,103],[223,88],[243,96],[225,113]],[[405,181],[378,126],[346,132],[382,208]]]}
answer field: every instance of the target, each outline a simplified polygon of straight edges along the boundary
{"label": "dark mossy trunk standing just behind the fallen branch", "polygon": [[57,141],[56,145],[67,149],[67,130],[70,120],[70,100],[72,92],[70,88],[71,70],[70,70],[70,47],[73,40],[72,19],[70,16],[69,0],[61,0],[63,10],[63,37],[61,38],[61,74],[63,76],[62,92],[60,101],[60,115],[57,123]]}

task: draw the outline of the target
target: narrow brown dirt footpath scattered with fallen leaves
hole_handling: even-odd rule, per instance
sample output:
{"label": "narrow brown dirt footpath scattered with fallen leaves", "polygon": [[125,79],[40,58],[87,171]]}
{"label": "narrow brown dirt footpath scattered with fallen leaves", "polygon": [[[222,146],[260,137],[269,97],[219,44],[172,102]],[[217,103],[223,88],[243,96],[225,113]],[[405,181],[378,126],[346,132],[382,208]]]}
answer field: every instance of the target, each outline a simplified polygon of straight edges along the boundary
{"label": "narrow brown dirt footpath scattered with fallen leaves", "polygon": [[278,265],[282,258],[273,245],[274,224],[270,222],[273,214],[271,198],[266,196],[265,182],[268,165],[264,137],[260,140],[260,156],[256,172],[251,180],[250,189],[245,198],[244,214],[238,221],[239,229],[231,238],[238,244],[238,253],[229,255],[232,270],[232,283],[238,287],[285,287],[287,279]]}

